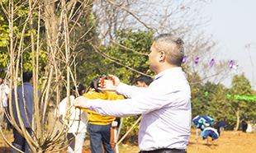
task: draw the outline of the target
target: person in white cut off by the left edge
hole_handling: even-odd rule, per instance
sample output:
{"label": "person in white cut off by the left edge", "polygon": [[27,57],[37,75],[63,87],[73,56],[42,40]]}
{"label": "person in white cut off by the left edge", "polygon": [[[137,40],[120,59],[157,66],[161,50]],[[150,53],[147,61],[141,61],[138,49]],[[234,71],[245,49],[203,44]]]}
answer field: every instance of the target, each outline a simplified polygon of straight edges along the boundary
{"label": "person in white cut off by the left edge", "polygon": [[0,126],[4,122],[4,109],[7,108],[7,101],[9,99],[10,89],[6,84],[2,83],[2,77],[0,77]]}

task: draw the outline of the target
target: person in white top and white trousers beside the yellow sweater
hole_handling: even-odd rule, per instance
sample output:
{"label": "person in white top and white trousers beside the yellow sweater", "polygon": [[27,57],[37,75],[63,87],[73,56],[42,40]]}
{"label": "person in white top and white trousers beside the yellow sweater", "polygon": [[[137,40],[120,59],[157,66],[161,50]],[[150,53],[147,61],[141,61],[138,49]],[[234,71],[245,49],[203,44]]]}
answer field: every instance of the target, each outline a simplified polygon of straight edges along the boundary
{"label": "person in white top and white trousers beside the yellow sweater", "polygon": [[[76,87],[78,89],[78,93],[76,91]],[[73,100],[77,98],[78,96],[81,96],[85,93],[85,87],[83,84],[78,84],[77,86],[73,86],[72,95],[69,96],[70,98],[70,104],[73,104]],[[59,103],[59,115],[63,116],[66,113],[66,110],[69,109],[67,106],[67,100],[68,97],[64,98]],[[87,132],[87,118],[88,114],[87,112],[81,111],[81,109],[76,109],[76,112],[74,111],[74,107],[69,109],[69,112],[72,113],[69,120],[69,131],[68,131],[68,140],[69,140],[69,147],[68,147],[68,153],[72,153],[73,151],[76,151],[77,153],[83,152],[83,141],[86,136]],[[74,134],[76,134],[76,137],[74,137]],[[75,140],[73,140],[75,139]],[[78,151],[77,151],[78,150]]]}

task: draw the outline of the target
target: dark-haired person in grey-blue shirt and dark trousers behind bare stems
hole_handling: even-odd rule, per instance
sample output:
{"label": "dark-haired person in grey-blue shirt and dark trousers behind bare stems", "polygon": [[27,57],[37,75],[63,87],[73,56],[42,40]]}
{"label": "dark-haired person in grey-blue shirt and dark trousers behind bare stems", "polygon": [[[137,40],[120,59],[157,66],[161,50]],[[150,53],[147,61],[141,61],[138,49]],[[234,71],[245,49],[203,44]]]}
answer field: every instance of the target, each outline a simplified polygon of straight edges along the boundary
{"label": "dark-haired person in grey-blue shirt and dark trousers behind bare stems", "polygon": [[[26,131],[31,135],[31,126],[32,126],[32,116],[34,109],[34,89],[33,89],[33,76],[32,72],[23,72],[22,73],[23,84],[17,87],[17,100],[18,106],[21,114],[22,122],[26,127]],[[38,95],[40,95],[40,90],[38,90]],[[26,110],[25,110],[26,108]],[[17,108],[15,103],[14,90],[12,90],[12,111],[15,118],[15,122],[18,127],[21,128],[21,123],[18,120]],[[8,123],[9,127],[11,123]],[[15,146],[17,149],[24,151],[26,153],[31,152],[31,148],[28,145],[26,139],[17,132],[16,128],[13,128],[13,137],[12,146]],[[16,153],[17,151],[13,150],[11,153]]]}

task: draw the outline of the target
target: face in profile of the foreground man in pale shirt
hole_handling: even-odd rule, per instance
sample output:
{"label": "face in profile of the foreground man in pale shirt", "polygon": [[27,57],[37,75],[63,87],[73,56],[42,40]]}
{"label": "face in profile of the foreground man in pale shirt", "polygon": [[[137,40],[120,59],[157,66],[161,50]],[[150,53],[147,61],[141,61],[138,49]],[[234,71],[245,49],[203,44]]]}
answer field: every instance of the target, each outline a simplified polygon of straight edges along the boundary
{"label": "face in profile of the foreground man in pale shirt", "polygon": [[154,48],[155,42],[151,45],[151,48],[149,50],[149,68],[153,71],[156,72],[158,68],[158,60],[159,60],[159,52],[157,49]]}

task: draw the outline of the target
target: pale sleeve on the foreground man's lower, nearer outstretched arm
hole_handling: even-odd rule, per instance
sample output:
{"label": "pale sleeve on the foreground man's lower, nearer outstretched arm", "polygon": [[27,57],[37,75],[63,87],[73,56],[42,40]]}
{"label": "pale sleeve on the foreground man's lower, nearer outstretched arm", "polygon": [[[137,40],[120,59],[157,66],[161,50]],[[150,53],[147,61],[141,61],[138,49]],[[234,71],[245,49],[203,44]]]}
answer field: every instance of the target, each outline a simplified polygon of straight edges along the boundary
{"label": "pale sleeve on the foreground man's lower, nearer outstretched arm", "polygon": [[[132,95],[126,100],[88,100],[88,109],[101,115],[126,118],[138,114],[148,114],[155,109],[167,107],[169,104],[168,95],[159,95],[154,90],[147,93],[140,92],[140,95]],[[160,99],[158,97],[161,97]]]}

